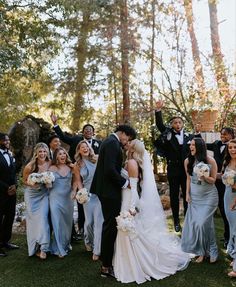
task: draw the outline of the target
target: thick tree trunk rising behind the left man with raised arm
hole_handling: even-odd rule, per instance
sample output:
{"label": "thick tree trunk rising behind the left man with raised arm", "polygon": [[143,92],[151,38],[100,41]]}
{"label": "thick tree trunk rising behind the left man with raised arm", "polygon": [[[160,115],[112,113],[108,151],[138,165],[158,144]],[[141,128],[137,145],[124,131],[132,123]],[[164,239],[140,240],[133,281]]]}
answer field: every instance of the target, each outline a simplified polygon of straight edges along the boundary
{"label": "thick tree trunk rising behind the left man with raised arm", "polygon": [[76,79],[75,79],[75,97],[73,119],[71,124],[72,131],[78,131],[81,128],[81,116],[84,111],[84,95],[86,93],[86,69],[85,63],[88,56],[88,34],[90,26],[90,14],[83,13],[83,22],[79,31],[78,44],[76,48]]}

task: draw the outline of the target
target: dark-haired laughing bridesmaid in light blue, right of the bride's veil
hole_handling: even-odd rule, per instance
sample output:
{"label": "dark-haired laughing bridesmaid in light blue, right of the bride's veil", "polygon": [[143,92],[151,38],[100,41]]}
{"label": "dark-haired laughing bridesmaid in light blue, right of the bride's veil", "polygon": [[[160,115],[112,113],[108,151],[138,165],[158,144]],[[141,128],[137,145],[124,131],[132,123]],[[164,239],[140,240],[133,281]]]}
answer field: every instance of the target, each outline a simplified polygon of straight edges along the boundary
{"label": "dark-haired laughing bridesmaid in light blue, right of the bride's veil", "polygon": [[[210,167],[210,175],[202,176],[201,184],[193,171],[199,162],[204,162]],[[181,246],[183,251],[198,256],[195,262],[201,263],[205,256],[210,256],[210,263],[214,263],[218,257],[214,228],[214,213],[218,205],[218,192],[215,187],[217,165],[212,157],[207,156],[206,144],[202,138],[194,138],[191,141],[185,170],[188,210]]]}

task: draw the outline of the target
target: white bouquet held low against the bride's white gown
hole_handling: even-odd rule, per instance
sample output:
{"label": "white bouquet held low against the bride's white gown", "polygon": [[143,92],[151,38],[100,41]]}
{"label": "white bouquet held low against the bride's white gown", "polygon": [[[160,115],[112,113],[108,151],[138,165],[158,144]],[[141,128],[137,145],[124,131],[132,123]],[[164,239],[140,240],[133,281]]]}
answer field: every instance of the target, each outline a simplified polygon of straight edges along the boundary
{"label": "white bouquet held low against the bride's white gown", "polygon": [[128,233],[136,233],[134,216],[129,211],[121,211],[116,217],[117,229]]}

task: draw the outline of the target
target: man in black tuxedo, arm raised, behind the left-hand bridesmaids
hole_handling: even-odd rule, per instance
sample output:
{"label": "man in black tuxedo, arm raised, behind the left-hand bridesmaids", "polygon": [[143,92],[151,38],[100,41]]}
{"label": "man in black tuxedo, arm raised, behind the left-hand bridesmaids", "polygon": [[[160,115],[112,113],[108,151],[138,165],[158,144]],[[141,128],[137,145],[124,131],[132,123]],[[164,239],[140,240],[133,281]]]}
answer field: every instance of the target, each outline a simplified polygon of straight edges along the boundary
{"label": "man in black tuxedo, arm raised, behind the left-hand bridesmaids", "polygon": [[[86,124],[83,126],[83,129],[82,129],[83,135],[68,136],[61,130],[60,126],[57,124],[57,116],[53,113],[51,114],[51,120],[54,125],[53,129],[58,135],[58,137],[60,138],[60,140],[70,146],[68,154],[73,162],[75,161],[74,157],[75,157],[76,147],[78,143],[81,142],[82,140],[87,141],[87,143],[93,148],[95,154],[99,153],[101,141],[93,138],[94,127],[91,124]],[[77,205],[78,205],[78,213],[79,213],[78,225],[80,228],[80,233],[76,234],[75,229],[73,227],[72,240],[74,241],[78,241],[82,239],[84,221],[85,221],[83,205],[80,203],[77,203]]]}

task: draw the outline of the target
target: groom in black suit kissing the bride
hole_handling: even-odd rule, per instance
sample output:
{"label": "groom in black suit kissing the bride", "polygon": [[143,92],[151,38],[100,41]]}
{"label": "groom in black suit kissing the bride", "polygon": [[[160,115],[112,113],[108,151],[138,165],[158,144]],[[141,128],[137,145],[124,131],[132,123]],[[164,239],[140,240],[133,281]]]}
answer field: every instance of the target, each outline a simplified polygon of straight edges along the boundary
{"label": "groom in black suit kissing the bride", "polygon": [[132,127],[120,125],[102,142],[91,185],[91,192],[97,194],[101,201],[104,217],[101,241],[102,277],[114,277],[112,258],[117,234],[116,217],[121,208],[121,189],[129,184],[129,181],[120,175],[121,147],[135,137],[136,132]]}

